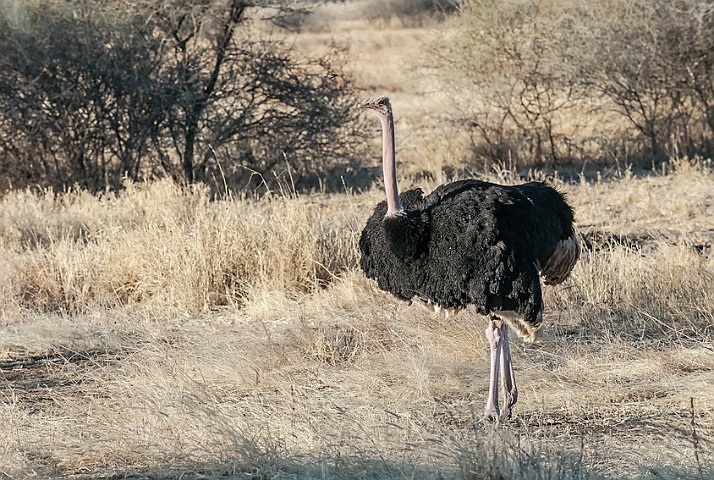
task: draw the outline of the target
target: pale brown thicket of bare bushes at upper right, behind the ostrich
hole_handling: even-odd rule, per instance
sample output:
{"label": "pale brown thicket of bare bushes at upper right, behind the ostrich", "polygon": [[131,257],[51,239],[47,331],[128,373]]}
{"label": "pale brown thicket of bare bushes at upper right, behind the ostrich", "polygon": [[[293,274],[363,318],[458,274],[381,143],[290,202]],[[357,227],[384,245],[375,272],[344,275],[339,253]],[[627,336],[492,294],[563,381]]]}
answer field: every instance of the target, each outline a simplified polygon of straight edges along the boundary
{"label": "pale brown thicket of bare bushes at upper right, behind the ostrich", "polygon": [[712,155],[711,0],[468,0],[437,52],[488,160]]}

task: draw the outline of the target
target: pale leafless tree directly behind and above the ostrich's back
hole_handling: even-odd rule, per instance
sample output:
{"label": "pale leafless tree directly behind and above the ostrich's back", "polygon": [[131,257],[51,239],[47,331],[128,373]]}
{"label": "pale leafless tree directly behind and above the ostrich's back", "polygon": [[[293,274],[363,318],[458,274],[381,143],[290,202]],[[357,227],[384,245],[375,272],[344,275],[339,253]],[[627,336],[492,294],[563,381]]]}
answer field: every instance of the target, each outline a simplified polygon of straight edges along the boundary
{"label": "pale leafless tree directly behind and above the ostrich's back", "polygon": [[[558,119],[581,91],[560,58],[567,19],[547,2],[474,0],[461,6],[460,35],[436,52],[475,143],[487,159],[555,163],[571,154]],[[468,92],[467,95],[464,95]],[[464,98],[472,101],[464,102]]]}

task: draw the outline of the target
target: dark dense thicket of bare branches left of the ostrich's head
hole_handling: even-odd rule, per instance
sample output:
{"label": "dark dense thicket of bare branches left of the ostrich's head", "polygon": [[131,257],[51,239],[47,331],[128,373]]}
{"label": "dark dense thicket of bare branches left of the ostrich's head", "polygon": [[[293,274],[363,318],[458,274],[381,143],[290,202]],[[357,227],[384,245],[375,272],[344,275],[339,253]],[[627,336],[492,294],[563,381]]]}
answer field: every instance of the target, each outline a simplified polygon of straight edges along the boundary
{"label": "dark dense thicket of bare branches left of the ostrich's head", "polygon": [[248,19],[256,3],[0,1],[0,188],[245,188],[344,161],[358,112],[340,52],[298,59]]}

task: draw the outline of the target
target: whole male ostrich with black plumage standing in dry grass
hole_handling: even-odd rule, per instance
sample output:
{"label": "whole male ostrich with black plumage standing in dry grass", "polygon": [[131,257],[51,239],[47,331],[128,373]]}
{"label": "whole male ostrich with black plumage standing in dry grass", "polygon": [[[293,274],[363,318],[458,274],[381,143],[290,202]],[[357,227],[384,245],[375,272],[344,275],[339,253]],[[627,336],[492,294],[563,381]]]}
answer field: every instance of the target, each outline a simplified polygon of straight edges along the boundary
{"label": "whole male ostrich with black plumage standing in dry grass", "polygon": [[402,300],[417,297],[447,315],[474,305],[489,316],[491,375],[484,418],[508,419],[518,399],[508,327],[527,342],[538,338],[540,277],[557,285],[580,257],[573,211],[541,182],[504,186],[459,180],[427,196],[418,188],[399,195],[389,99],[375,97],[360,106],[382,121],[387,193],[362,231],[360,266],[379,288]]}

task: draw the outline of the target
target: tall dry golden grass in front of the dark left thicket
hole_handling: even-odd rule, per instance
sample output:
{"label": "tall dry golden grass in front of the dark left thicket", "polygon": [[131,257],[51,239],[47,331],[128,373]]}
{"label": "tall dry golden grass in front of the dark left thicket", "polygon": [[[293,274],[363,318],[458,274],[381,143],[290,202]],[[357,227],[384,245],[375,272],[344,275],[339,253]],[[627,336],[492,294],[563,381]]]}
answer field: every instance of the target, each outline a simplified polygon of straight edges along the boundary
{"label": "tall dry golden grass in front of the dark left thicket", "polygon": [[240,306],[252,292],[313,291],[353,268],[357,216],[276,196],[209,201],[202,187],[129,184],[118,195],[14,192],[2,199],[3,310]]}

